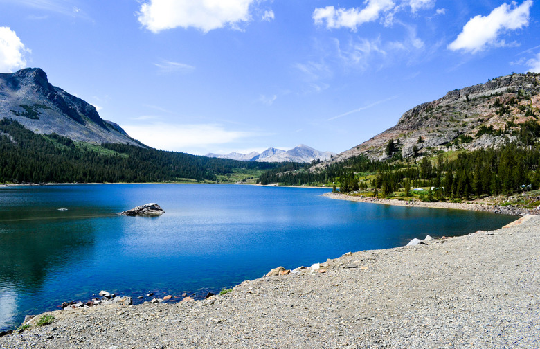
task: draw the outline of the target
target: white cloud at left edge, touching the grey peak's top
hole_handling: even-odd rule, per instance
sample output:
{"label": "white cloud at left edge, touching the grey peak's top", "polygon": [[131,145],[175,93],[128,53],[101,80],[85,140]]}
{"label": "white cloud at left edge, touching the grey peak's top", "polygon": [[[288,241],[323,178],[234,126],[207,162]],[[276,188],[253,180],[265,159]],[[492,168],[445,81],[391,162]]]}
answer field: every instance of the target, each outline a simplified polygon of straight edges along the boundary
{"label": "white cloud at left edge, touching the grey peak's top", "polygon": [[31,51],[10,27],[0,27],[0,72],[12,73],[26,66],[24,55]]}

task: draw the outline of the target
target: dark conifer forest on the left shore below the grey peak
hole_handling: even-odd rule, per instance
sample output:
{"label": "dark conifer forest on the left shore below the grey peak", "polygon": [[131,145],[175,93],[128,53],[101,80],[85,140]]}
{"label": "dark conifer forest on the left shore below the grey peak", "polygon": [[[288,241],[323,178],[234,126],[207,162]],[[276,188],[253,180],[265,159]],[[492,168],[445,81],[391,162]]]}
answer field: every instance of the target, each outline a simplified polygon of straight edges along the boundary
{"label": "dark conifer forest on the left shore below the grey peak", "polygon": [[149,147],[74,142],[0,120],[0,183],[219,181],[220,174],[271,169],[269,163],[209,159]]}

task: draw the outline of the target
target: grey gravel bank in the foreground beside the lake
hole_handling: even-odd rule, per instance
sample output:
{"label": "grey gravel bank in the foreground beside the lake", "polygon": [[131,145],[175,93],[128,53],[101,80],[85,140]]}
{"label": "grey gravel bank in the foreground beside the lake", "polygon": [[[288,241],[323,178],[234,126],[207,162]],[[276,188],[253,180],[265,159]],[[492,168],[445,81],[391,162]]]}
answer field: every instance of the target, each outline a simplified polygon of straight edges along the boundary
{"label": "grey gravel bank in the foreground beside the lake", "polygon": [[539,238],[532,216],[314,261],[204,301],[61,310],[0,348],[540,348]]}

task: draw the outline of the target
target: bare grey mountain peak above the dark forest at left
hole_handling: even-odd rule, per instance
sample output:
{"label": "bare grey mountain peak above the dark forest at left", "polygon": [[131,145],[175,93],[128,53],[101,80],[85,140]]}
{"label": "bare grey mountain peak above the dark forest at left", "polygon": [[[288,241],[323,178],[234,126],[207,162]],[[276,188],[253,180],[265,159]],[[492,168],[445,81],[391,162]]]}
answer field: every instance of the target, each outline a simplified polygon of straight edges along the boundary
{"label": "bare grey mountain peak above the dark forest at left", "polygon": [[59,134],[87,143],[143,146],[93,105],[48,82],[39,68],[0,73],[0,120],[10,118],[37,134]]}

